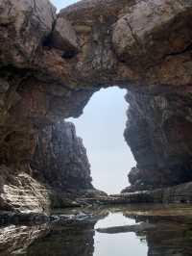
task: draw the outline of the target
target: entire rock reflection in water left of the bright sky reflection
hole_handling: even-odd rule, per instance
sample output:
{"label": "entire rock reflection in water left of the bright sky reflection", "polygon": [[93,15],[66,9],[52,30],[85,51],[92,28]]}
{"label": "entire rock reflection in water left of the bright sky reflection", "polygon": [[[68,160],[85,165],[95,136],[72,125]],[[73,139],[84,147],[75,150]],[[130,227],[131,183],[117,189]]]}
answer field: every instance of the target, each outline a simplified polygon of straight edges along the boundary
{"label": "entire rock reflection in water left of the bright sky reflection", "polygon": [[94,224],[3,227],[0,229],[0,255],[92,256]]}

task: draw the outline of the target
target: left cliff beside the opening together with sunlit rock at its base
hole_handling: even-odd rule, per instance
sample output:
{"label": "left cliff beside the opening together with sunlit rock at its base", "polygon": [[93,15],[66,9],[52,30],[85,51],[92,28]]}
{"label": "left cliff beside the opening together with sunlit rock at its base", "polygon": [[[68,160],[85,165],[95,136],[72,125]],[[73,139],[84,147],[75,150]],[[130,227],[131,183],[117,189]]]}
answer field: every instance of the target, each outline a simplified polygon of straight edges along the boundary
{"label": "left cliff beside the opening together with sunlit rock at its base", "polygon": [[67,199],[64,193],[94,191],[83,141],[63,120],[39,130],[28,164],[0,169],[1,210],[49,214],[51,205]]}

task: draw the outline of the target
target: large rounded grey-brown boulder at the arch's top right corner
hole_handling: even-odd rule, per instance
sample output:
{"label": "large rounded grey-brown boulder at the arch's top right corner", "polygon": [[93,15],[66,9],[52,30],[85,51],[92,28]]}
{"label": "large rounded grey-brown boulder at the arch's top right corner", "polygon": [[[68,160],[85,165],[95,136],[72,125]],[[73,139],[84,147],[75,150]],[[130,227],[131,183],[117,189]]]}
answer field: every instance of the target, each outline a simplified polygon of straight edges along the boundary
{"label": "large rounded grey-brown boulder at the arch's top right corner", "polygon": [[183,52],[191,44],[191,7],[189,1],[138,1],[114,26],[116,53],[129,64],[154,65]]}

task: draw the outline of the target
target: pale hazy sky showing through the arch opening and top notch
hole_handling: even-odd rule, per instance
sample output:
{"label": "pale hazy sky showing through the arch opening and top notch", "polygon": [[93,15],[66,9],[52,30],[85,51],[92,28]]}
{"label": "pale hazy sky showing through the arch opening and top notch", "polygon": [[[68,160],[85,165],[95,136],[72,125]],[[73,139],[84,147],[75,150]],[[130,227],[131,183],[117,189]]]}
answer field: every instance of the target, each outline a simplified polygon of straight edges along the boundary
{"label": "pale hazy sky showing through the arch opening and top notch", "polygon": [[[61,9],[75,0],[52,0]],[[128,186],[128,172],[135,166],[132,152],[124,140],[128,104],[126,90],[109,88],[96,92],[84,108],[84,115],[69,120],[76,125],[77,135],[84,140],[93,185],[108,193]]]}

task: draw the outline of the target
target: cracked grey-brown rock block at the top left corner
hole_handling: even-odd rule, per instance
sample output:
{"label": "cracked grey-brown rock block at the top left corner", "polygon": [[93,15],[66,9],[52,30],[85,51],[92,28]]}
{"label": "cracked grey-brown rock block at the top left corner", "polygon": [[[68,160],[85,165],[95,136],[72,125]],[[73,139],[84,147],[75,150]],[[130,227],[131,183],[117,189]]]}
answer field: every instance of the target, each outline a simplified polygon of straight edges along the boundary
{"label": "cracked grey-brown rock block at the top left corner", "polygon": [[56,9],[48,0],[1,0],[0,66],[30,64],[55,19]]}

